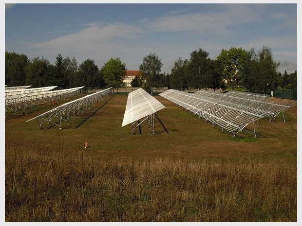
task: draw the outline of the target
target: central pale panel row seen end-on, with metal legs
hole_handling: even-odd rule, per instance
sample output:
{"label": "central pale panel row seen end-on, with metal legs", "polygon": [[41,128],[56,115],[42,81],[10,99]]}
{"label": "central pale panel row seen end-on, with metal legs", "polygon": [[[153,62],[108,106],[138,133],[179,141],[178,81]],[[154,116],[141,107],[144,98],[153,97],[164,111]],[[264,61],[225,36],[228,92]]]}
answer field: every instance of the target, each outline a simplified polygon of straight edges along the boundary
{"label": "central pale panel row seen end-on, with metal legs", "polygon": [[[141,126],[142,122],[149,120],[151,130],[153,131],[153,133],[155,133],[155,118],[158,119],[162,124],[162,122],[156,115],[156,112],[163,108],[165,108],[165,106],[149,93],[147,93],[144,89],[139,88],[137,90],[134,90],[128,94],[122,127],[132,123],[132,133],[134,133],[135,128]],[[168,130],[165,128],[165,126],[163,124],[162,126],[168,133]]]}

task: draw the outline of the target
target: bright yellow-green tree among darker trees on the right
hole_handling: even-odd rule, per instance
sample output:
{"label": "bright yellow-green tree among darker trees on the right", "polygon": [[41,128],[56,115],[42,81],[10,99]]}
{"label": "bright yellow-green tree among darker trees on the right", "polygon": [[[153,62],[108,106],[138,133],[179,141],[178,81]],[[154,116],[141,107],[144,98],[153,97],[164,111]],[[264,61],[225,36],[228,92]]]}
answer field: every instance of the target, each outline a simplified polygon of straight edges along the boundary
{"label": "bright yellow-green tree among darker trees on the right", "polygon": [[223,75],[227,86],[242,87],[243,76],[245,75],[250,54],[242,48],[232,47],[229,50],[222,50],[217,56],[217,72]]}

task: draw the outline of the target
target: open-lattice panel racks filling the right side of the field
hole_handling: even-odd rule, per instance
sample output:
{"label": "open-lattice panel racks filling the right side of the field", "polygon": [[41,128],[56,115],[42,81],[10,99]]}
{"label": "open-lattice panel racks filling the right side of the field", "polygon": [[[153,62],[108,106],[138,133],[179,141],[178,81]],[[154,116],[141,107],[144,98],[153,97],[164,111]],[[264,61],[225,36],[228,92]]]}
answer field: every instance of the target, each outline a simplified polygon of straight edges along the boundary
{"label": "open-lattice panel racks filling the right side of the field", "polygon": [[226,130],[232,133],[233,137],[238,132],[243,132],[250,123],[253,123],[254,136],[256,137],[259,126],[254,122],[266,116],[275,116],[275,111],[277,111],[275,108],[279,107],[278,109],[281,111],[289,107],[289,104],[281,106],[280,104],[251,101],[242,97],[235,98],[208,91],[187,93],[169,89],[159,95],[193,112],[200,118],[204,118],[206,122],[212,122],[213,125],[221,127],[222,131]]}

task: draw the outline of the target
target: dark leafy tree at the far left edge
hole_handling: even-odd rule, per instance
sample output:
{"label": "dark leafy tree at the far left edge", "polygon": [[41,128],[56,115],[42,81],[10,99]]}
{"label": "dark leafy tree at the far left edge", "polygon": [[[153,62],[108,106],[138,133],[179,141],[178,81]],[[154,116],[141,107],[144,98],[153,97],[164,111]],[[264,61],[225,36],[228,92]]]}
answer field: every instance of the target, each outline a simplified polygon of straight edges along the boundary
{"label": "dark leafy tree at the far left edge", "polygon": [[5,51],[5,85],[24,86],[25,66],[29,63],[25,54]]}

